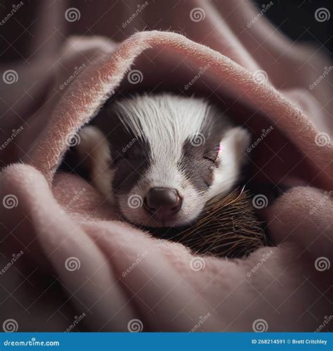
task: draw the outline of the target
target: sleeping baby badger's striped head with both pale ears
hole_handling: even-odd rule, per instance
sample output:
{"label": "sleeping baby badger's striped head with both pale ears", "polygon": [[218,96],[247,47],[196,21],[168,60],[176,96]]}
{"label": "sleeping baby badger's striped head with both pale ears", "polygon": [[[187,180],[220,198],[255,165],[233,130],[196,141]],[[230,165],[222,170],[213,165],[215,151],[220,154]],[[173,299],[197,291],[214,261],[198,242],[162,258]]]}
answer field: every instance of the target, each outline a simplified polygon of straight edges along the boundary
{"label": "sleeping baby badger's striped head with both pale ears", "polygon": [[162,93],[111,102],[79,139],[91,182],[126,220],[178,227],[233,190],[250,135],[201,98]]}

